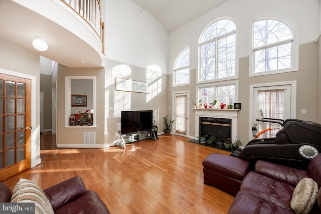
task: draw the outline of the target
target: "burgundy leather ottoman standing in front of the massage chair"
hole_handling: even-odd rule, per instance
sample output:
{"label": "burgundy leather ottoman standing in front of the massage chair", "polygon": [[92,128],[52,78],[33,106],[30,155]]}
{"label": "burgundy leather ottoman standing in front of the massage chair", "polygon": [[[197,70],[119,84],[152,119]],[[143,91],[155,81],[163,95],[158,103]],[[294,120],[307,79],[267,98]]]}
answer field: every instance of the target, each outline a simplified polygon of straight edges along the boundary
{"label": "burgundy leather ottoman standing in front of the massage chair", "polygon": [[240,190],[242,180],[250,168],[246,160],[217,153],[208,155],[202,164],[204,184],[216,186],[233,195]]}

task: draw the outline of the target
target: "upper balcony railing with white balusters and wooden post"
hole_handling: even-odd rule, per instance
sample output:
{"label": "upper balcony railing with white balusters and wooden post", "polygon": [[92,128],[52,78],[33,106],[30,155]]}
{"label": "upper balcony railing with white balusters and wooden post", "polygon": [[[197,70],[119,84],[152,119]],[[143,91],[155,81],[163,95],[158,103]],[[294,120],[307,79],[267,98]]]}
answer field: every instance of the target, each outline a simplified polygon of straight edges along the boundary
{"label": "upper balcony railing with white balusters and wooden post", "polygon": [[104,53],[104,23],[101,20],[100,0],[61,0],[80,15],[96,32]]}

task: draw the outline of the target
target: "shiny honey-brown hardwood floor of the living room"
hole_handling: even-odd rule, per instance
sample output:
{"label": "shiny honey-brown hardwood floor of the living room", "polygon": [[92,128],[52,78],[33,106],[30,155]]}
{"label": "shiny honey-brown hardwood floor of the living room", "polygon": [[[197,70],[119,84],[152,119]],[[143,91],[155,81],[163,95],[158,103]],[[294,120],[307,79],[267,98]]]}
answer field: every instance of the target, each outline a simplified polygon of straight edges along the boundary
{"label": "shiny honey-brown hardwood floor of the living room", "polygon": [[203,184],[203,159],[227,151],[170,135],[126,144],[126,149],[57,149],[55,135],[41,135],[42,163],[3,183],[11,189],[19,178],[47,188],[81,176],[111,213],[227,213],[234,196]]}

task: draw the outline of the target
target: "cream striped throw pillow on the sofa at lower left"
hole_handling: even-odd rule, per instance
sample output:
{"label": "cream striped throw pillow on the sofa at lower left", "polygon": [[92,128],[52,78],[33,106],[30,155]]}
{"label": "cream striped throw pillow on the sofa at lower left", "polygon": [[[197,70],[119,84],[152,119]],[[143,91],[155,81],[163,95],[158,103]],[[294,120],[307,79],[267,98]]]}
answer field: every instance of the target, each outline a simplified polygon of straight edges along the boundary
{"label": "cream striped throw pillow on the sofa at lower left", "polygon": [[35,203],[36,214],[54,214],[44,191],[32,180],[20,178],[11,196],[11,202]]}

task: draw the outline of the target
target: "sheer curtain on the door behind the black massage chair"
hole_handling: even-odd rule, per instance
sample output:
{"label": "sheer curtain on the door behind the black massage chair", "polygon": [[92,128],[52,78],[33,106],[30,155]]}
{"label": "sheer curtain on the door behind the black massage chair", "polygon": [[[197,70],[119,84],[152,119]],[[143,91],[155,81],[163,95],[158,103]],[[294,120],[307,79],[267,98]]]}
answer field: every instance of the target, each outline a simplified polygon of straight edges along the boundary
{"label": "sheer curtain on the door behind the black massage chair", "polygon": [[[257,92],[258,106],[257,109],[262,109],[265,118],[274,118],[284,120],[284,89],[273,90],[259,90]],[[265,123],[266,128],[280,127],[277,123]],[[262,127],[259,123],[259,131],[262,131]],[[275,134],[279,129],[273,129],[266,132],[267,137],[275,137]],[[262,136],[260,136],[262,137]]]}

